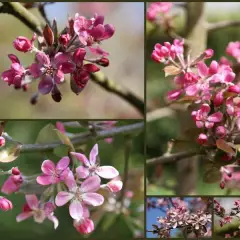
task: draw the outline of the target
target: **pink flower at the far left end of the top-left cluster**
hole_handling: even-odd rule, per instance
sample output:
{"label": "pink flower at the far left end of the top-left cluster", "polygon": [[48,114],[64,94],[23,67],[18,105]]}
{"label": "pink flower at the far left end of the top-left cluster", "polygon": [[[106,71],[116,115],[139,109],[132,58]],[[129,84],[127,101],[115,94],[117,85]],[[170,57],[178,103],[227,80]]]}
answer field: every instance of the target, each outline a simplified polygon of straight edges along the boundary
{"label": "pink flower at the far left end of the top-left cluster", "polygon": [[1,75],[4,82],[7,82],[8,85],[15,85],[17,88],[21,88],[22,80],[25,76],[26,70],[20,64],[19,59],[17,56],[13,54],[8,55],[9,59],[11,60],[11,68],[7,71],[4,71]]}

